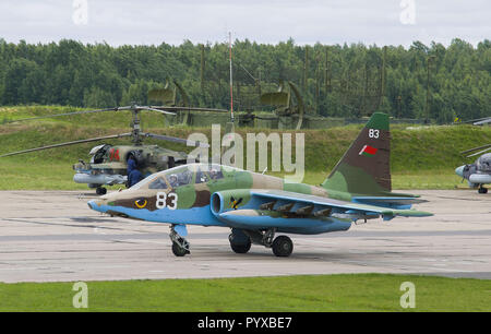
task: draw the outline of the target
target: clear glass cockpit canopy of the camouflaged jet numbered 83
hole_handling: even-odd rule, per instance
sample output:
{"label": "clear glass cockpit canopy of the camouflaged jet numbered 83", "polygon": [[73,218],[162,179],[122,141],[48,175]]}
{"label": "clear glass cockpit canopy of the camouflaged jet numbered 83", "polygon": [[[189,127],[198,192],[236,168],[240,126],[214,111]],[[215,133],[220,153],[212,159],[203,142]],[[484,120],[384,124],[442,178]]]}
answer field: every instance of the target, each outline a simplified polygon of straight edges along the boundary
{"label": "clear glass cockpit canopy of the camouflaged jet numbered 83", "polygon": [[175,189],[223,178],[224,172],[219,165],[191,164],[153,174],[130,189]]}

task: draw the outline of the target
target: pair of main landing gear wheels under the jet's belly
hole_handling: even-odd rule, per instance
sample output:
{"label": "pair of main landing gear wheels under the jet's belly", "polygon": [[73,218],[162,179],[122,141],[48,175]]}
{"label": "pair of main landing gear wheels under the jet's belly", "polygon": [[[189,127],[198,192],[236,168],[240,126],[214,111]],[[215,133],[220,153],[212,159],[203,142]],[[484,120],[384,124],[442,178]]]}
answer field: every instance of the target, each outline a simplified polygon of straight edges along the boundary
{"label": "pair of main landing gear wheels under the jet's belly", "polygon": [[251,249],[251,244],[256,243],[271,248],[276,257],[289,257],[294,251],[294,242],[287,236],[274,238],[275,232],[275,228],[263,231],[232,228],[228,240],[230,241],[230,248],[236,253],[247,253]]}

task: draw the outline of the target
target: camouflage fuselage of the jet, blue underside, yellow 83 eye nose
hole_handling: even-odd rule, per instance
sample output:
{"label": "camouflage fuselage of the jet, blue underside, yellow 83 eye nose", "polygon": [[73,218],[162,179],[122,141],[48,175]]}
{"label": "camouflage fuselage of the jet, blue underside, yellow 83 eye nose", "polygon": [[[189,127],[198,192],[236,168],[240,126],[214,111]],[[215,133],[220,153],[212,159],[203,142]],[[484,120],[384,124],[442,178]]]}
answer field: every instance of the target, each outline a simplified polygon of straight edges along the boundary
{"label": "camouflage fuselage of the jet, blue underside, yellow 83 eye nose", "polygon": [[[189,180],[171,184],[171,176],[188,172]],[[351,225],[349,219],[328,216],[330,212],[315,216],[312,214],[314,207],[298,211],[288,201],[258,199],[253,195],[254,190],[328,198],[327,191],[320,187],[288,183],[282,178],[228,166],[212,165],[209,168],[208,165],[193,164],[157,172],[128,190],[109,193],[88,205],[111,215],[178,225],[273,227],[296,234],[346,230]]]}

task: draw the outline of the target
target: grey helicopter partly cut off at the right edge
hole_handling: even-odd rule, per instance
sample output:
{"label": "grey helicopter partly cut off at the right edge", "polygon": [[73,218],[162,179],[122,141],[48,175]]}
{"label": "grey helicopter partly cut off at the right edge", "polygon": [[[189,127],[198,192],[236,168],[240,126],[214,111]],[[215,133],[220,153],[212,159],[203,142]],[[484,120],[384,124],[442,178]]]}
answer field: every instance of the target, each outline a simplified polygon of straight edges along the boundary
{"label": "grey helicopter partly cut off at the right edge", "polygon": [[[480,151],[479,151],[480,150]],[[467,154],[475,151],[479,151],[477,153],[472,153],[467,157],[480,155],[474,164],[463,165],[455,169],[455,174],[459,177],[467,180],[469,187],[478,188],[479,193],[488,193],[488,188],[484,184],[491,183],[491,153],[487,153],[491,151],[491,144],[474,147],[470,150],[466,150],[460,152],[460,154]]]}

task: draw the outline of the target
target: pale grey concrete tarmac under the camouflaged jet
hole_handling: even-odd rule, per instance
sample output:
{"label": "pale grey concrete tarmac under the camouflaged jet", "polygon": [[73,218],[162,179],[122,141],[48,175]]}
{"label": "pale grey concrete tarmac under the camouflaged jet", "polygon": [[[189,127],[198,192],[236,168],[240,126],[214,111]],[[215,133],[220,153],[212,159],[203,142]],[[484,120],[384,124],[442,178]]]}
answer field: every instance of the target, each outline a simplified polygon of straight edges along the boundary
{"label": "pale grey concrete tarmac under the camouflaged jet", "polygon": [[[409,192],[409,191],[408,191]],[[369,220],[348,231],[290,236],[290,258],[252,246],[236,254],[229,230],[189,227],[191,254],[176,258],[166,224],[91,211],[89,192],[0,191],[0,282],[75,282],[338,273],[491,278],[491,194],[412,191],[426,218]]]}

